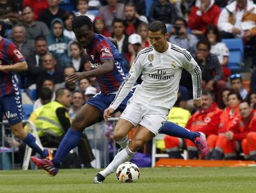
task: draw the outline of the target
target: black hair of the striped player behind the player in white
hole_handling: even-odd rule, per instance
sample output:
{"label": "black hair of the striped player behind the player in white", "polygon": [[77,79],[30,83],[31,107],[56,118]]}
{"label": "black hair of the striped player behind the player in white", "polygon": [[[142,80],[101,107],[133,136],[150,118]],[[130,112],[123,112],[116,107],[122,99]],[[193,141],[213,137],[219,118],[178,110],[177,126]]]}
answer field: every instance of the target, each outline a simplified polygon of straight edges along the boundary
{"label": "black hair of the striped player behind the player in white", "polygon": [[89,29],[93,29],[93,32],[98,33],[97,28],[93,21],[86,15],[75,15],[72,20],[72,31],[80,29],[82,26],[88,26]]}

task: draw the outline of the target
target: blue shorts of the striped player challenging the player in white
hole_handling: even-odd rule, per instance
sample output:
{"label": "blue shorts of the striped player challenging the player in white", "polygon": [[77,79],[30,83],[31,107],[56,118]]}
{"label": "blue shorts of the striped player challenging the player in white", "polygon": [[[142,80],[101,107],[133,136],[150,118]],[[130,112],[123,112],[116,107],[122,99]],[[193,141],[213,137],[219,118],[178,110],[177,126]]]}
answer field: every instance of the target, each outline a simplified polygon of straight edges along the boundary
{"label": "blue shorts of the striped player challenging the player in white", "polygon": [[[134,94],[134,91],[129,92],[126,98],[122,101],[122,103],[120,103],[119,107],[116,109],[116,112],[118,111],[123,112],[125,110],[127,102],[131,98],[132,94]],[[95,96],[91,97],[91,99],[86,101],[86,103],[98,108],[102,113],[102,119],[103,119],[104,110],[109,108],[109,105],[112,103],[115,97],[116,97],[116,94],[103,94],[102,92],[100,92]]]}

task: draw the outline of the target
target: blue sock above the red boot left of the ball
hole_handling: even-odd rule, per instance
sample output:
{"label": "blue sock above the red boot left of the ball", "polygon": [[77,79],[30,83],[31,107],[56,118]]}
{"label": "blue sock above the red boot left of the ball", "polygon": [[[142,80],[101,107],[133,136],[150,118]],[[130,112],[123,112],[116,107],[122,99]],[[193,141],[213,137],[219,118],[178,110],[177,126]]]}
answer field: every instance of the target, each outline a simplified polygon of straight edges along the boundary
{"label": "blue sock above the red boot left of the ball", "polygon": [[81,136],[82,132],[76,132],[71,128],[68,130],[68,132],[66,132],[52,160],[55,167],[60,167],[60,164],[64,158],[73,148],[75,148],[77,143],[80,141]]}

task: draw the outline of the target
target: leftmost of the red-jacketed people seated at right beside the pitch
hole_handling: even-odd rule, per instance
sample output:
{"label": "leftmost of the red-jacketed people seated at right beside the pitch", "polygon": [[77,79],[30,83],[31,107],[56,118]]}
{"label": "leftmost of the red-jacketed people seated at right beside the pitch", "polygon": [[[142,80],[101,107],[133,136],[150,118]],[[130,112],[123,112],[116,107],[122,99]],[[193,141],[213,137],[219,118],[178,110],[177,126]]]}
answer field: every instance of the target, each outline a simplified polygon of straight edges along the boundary
{"label": "leftmost of the red-jacketed people seated at right beside the pitch", "polygon": [[[217,134],[222,110],[219,109],[217,103],[214,102],[214,95],[212,93],[203,91],[202,100],[203,104],[199,110],[192,115],[186,128],[193,132],[203,132],[207,136],[207,142],[211,153],[214,148],[214,146],[212,146],[211,134]],[[187,140],[186,143],[188,148],[188,159],[198,159],[199,152],[196,149],[196,146],[189,140]]]}

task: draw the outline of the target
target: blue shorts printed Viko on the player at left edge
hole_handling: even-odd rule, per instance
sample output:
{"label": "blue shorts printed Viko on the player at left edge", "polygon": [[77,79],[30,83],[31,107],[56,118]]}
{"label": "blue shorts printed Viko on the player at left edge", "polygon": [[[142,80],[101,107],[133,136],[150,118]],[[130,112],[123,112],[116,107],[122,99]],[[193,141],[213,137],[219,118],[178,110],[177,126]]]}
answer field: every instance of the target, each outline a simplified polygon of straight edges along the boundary
{"label": "blue shorts printed Viko on the player at left edge", "polygon": [[21,95],[6,95],[0,97],[0,121],[6,115],[10,125],[15,125],[22,121]]}

